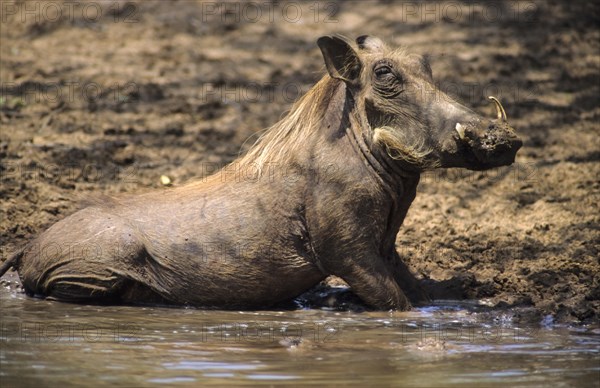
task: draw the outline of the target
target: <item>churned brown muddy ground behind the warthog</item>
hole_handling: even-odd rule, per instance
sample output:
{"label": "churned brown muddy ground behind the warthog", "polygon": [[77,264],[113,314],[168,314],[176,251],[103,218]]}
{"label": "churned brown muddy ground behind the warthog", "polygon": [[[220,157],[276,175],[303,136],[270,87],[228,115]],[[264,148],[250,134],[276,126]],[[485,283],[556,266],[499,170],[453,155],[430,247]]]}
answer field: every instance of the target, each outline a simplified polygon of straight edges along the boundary
{"label": "churned brown muddy ground behind the warthog", "polygon": [[232,161],[324,73],[319,36],[373,34],[429,53],[440,88],[475,110],[501,98],[524,139],[514,166],[423,176],[397,240],[411,269],[437,299],[596,320],[599,10],[2,2],[3,258],[89,196],[161,190],[162,175],[180,185]]}

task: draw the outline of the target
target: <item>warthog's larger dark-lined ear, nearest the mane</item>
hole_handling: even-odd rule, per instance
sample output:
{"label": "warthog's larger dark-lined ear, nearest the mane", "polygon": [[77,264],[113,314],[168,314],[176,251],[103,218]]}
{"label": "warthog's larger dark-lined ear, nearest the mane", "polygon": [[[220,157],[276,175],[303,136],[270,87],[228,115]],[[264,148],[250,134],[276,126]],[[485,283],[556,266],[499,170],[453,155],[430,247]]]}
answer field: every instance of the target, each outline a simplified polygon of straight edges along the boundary
{"label": "warthog's larger dark-lined ear, nearest the mane", "polygon": [[331,78],[354,83],[360,75],[361,63],[354,49],[336,36],[322,36],[317,45],[323,53],[325,66]]}

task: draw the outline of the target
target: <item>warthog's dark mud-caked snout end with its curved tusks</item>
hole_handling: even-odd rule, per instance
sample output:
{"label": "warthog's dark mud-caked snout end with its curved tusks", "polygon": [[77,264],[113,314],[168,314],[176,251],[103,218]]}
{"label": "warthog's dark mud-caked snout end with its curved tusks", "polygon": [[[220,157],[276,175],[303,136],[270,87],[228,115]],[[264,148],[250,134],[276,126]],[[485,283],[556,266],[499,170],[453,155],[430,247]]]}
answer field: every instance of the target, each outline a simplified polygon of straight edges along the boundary
{"label": "warthog's dark mud-caked snout end with its curved tusks", "polygon": [[507,166],[515,161],[517,151],[523,145],[514,129],[506,121],[506,113],[495,97],[489,97],[496,104],[498,118],[461,124],[456,123],[455,130],[465,146],[467,168],[485,170],[492,167]]}

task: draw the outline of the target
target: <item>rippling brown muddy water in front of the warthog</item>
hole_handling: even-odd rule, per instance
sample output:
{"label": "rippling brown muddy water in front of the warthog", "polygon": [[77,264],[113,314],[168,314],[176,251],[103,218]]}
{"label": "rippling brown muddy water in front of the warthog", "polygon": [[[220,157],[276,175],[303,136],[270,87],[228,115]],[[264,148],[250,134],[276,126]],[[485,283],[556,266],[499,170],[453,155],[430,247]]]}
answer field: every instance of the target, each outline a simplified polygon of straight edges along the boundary
{"label": "rippling brown muddy water in front of the warthog", "polygon": [[597,386],[598,327],[437,302],[406,313],[87,306],[0,290],[0,383]]}

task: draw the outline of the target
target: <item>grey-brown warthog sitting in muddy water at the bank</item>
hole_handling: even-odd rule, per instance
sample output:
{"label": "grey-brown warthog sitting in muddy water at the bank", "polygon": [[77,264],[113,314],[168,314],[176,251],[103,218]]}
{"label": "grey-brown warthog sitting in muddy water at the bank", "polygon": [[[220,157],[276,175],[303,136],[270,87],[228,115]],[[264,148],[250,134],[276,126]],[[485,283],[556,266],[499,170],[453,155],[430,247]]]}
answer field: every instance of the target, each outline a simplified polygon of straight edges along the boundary
{"label": "grey-brown warthog sitting in muddy water at the bank", "polygon": [[422,56],[370,36],[317,44],[328,74],[245,156],[89,205],[0,275],[15,267],[29,295],[71,302],[264,308],[328,275],[377,309],[426,298],[395,249],[420,174],[509,165],[522,143],[496,99],[497,118],[476,114],[434,86]]}

